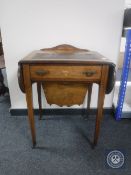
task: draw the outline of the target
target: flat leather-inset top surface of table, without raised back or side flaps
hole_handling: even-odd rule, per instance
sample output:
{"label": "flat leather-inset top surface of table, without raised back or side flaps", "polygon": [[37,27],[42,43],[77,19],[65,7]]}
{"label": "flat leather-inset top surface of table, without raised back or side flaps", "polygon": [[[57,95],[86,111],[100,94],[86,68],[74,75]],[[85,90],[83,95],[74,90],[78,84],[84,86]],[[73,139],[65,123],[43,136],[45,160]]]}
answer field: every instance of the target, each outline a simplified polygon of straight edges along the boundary
{"label": "flat leather-inset top surface of table, without raised back or side flaps", "polygon": [[55,52],[36,50],[19,61],[21,63],[88,63],[88,64],[113,64],[113,62],[95,51]]}

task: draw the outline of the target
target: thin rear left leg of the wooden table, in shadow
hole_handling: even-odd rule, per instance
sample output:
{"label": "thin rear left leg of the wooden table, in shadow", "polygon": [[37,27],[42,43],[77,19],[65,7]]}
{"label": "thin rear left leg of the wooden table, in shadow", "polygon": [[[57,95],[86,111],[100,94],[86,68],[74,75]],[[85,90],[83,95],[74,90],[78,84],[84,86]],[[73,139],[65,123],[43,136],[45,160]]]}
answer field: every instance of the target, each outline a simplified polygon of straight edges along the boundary
{"label": "thin rear left leg of the wooden table, in shadow", "polygon": [[39,104],[39,119],[42,118],[42,102],[41,102],[41,83],[37,83],[38,104]]}

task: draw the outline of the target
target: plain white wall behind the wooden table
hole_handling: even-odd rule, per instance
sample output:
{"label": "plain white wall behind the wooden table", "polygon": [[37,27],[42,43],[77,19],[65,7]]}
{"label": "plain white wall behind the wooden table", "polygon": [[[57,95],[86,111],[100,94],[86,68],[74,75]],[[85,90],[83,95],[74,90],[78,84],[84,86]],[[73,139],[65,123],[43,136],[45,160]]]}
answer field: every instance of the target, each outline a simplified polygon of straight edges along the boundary
{"label": "plain white wall behind the wooden table", "polygon": [[[32,50],[67,43],[98,51],[116,63],[123,10],[124,0],[0,0],[11,108],[26,107],[18,87],[17,63]],[[96,86],[93,92],[92,107],[96,106]],[[105,106],[111,104],[112,95],[108,95]]]}

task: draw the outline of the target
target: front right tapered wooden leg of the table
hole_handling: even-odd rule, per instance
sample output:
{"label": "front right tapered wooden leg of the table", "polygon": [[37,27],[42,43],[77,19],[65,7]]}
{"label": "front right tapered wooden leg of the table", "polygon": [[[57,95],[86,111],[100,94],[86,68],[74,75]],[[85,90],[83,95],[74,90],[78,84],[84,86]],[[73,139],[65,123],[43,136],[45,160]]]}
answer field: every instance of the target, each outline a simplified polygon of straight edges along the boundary
{"label": "front right tapered wooden leg of the table", "polygon": [[102,77],[99,85],[99,94],[98,94],[98,110],[97,110],[95,133],[94,133],[94,146],[97,145],[100,132],[100,123],[102,120],[103,104],[104,104],[105,90],[108,76],[108,66],[103,66],[101,76]]}

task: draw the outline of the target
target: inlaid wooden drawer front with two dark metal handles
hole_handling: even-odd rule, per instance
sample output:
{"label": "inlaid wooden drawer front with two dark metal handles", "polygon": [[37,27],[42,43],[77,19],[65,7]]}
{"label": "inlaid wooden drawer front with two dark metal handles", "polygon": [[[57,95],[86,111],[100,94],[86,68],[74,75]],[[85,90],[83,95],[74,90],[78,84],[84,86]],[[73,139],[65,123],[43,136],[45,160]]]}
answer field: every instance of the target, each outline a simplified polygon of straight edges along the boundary
{"label": "inlaid wooden drawer front with two dark metal handles", "polygon": [[99,80],[101,66],[30,66],[32,80]]}

